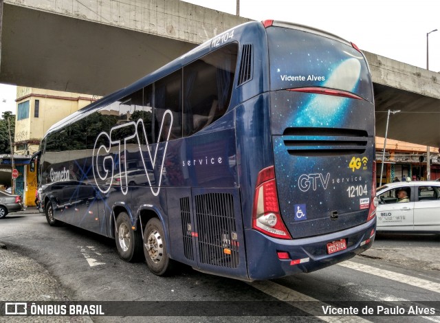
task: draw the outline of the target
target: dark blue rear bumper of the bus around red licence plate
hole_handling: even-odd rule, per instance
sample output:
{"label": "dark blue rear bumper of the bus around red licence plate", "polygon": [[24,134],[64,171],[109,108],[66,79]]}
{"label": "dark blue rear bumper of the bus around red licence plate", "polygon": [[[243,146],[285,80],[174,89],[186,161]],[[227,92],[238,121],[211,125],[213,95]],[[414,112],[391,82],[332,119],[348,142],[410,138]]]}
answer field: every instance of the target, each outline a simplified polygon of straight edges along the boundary
{"label": "dark blue rear bumper of the bus around red licence plate", "polygon": [[[270,238],[256,230],[246,230],[248,276],[250,280],[266,280],[311,272],[353,258],[373,244],[376,218],[347,230],[293,240]],[[327,244],[345,239],[347,249],[329,254]],[[283,259],[278,256],[282,252]]]}

